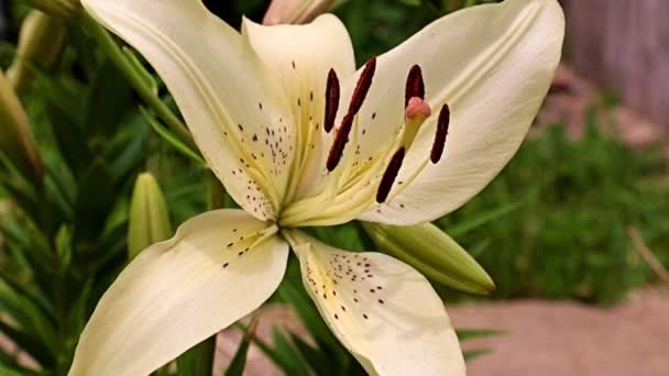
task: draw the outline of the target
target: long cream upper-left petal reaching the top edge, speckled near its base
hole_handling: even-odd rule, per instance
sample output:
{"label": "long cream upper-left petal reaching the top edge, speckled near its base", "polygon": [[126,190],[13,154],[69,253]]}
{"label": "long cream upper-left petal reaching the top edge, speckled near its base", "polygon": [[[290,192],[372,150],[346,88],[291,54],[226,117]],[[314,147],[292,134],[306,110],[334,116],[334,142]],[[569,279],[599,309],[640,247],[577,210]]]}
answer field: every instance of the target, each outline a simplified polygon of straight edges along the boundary
{"label": "long cream upper-left petal reaching the top edge, speckled near its base", "polygon": [[161,75],[234,200],[259,219],[274,218],[293,158],[293,114],[241,35],[198,0],[83,3]]}

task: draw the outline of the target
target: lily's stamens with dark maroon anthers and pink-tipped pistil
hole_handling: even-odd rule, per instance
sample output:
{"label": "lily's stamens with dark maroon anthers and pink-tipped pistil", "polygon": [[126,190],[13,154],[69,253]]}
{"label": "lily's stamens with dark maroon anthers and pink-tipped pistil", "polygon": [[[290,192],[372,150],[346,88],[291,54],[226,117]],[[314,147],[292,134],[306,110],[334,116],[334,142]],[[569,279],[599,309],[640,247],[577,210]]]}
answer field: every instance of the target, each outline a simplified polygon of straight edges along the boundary
{"label": "lily's stamens with dark maroon anthers and pink-tipped pistil", "polygon": [[[334,126],[340,100],[339,79],[334,70],[330,69],[328,73],[322,131],[325,134],[332,131],[334,133],[329,137],[331,143],[325,161],[326,183],[306,198],[290,202],[282,212],[282,226],[329,225],[350,221],[390,201],[425,167],[427,153],[425,162],[419,163],[405,181],[395,181],[406,155],[415,144],[418,131],[432,114],[429,103],[425,100],[425,82],[418,65],[409,69],[406,78],[404,122],[384,146],[372,152],[368,159],[359,159],[361,145],[364,146],[359,139],[361,134],[365,134],[365,129],[362,133],[357,131],[358,126],[364,125],[360,125],[363,120],[359,119],[359,112],[372,87],[375,70],[376,58],[371,58],[360,74],[339,126]],[[374,117],[375,114],[372,120]],[[443,104],[429,155],[432,163],[438,163],[443,153],[449,119],[449,108]],[[350,146],[351,144],[353,146]],[[348,151],[349,147],[355,150]]]}

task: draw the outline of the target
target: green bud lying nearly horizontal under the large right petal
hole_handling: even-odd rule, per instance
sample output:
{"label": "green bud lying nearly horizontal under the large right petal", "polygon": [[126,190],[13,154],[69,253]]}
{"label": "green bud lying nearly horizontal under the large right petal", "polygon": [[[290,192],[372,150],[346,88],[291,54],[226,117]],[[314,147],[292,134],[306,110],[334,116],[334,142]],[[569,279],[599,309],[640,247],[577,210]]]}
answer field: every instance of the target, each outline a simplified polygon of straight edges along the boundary
{"label": "green bud lying nearly horizontal under the large right petal", "polygon": [[412,265],[428,278],[472,294],[486,295],[495,288],[481,265],[431,223],[410,226],[361,223],[381,251]]}

